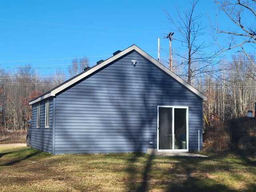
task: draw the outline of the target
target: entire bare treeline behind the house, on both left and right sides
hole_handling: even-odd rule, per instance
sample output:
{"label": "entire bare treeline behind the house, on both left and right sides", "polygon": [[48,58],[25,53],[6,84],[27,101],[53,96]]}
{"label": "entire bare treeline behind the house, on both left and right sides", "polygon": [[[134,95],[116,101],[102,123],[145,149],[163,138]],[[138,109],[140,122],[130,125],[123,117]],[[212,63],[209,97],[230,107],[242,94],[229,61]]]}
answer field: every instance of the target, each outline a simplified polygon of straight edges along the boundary
{"label": "entire bare treeline behind the house, on both left and right sides", "polygon": [[[208,97],[203,106],[203,116],[209,123],[206,124],[204,120],[205,127],[245,116],[248,110],[254,110],[256,69],[248,62],[248,58],[234,56],[232,61],[221,65],[226,67],[222,67],[214,76],[204,73],[204,76],[192,80],[193,85]],[[87,58],[73,60],[67,76],[63,70],[42,76],[31,66],[20,67],[16,72],[0,70],[1,130],[26,129],[27,121],[31,118],[31,106],[28,102],[79,74],[86,66]]]}

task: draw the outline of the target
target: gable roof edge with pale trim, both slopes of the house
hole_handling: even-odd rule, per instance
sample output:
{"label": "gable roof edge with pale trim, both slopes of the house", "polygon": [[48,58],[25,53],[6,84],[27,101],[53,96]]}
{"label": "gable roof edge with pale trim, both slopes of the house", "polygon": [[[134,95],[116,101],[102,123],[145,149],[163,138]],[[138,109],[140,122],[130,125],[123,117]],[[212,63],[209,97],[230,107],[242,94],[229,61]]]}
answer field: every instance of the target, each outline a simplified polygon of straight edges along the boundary
{"label": "gable roof edge with pale trim, both slopes of the house", "polygon": [[171,76],[172,78],[174,78],[177,82],[179,82],[180,84],[182,84],[183,86],[185,86],[188,90],[190,90],[191,92],[193,92],[194,94],[196,94],[198,97],[202,98],[203,101],[207,101],[207,97],[202,94],[200,91],[198,91],[196,88],[194,88],[193,86],[191,86],[190,84],[188,84],[186,81],[184,81],[182,78],[180,78],[179,76],[177,76],[176,74],[174,74],[173,72],[171,72],[168,68],[166,68],[165,66],[163,66],[162,64],[160,64],[157,60],[155,60],[154,58],[152,58],[150,55],[148,55],[146,52],[144,52],[142,49],[140,49],[138,46],[136,46],[135,44],[126,48],[125,50],[123,50],[122,52],[106,59],[104,62],[95,65],[93,67],[91,67],[90,69],[83,71],[82,73],[70,78],[69,80],[63,82],[62,84],[56,86],[55,88],[53,88],[52,90],[42,94],[41,96],[34,98],[33,100],[31,100],[29,102],[30,105],[39,102],[41,100],[44,100],[46,98],[50,98],[52,96],[56,96],[56,94],[58,94],[59,92],[61,92],[62,90],[72,86],[73,84],[75,84],[76,82],[82,80],[83,78],[85,78],[86,76],[89,76],[90,74],[96,72],[97,70],[100,70],[101,68],[103,68],[104,66],[110,64],[111,62],[114,62],[115,60],[118,60],[119,58],[121,58],[122,56],[128,54],[129,52],[132,51],[136,51],[138,52],[138,54],[140,54],[141,56],[143,56],[144,58],[146,58],[148,61],[152,62],[157,68],[159,68],[160,70],[166,72],[169,76]]}

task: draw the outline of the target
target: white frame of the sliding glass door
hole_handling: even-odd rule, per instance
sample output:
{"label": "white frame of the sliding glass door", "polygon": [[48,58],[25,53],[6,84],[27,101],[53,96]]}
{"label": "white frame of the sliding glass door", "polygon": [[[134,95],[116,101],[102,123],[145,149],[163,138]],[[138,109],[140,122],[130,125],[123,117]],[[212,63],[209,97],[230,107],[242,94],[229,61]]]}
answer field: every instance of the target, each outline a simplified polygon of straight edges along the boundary
{"label": "white frame of the sliding glass door", "polygon": [[[159,149],[159,108],[172,108],[172,132],[174,133],[174,109],[182,108],[186,110],[186,149],[174,149],[174,136],[172,136],[172,149]],[[157,106],[157,151],[158,152],[188,152],[188,106]]]}

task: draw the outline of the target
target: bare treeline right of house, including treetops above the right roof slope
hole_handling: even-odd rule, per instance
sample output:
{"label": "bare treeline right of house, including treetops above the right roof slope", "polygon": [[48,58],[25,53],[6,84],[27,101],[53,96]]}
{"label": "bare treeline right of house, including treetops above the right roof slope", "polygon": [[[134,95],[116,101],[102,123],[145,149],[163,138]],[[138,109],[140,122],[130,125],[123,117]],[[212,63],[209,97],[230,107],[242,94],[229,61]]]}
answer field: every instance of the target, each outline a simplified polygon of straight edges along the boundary
{"label": "bare treeline right of house, including treetops above the right roof slope", "polygon": [[[253,54],[250,58],[255,61]],[[246,116],[248,110],[254,112],[256,102],[256,68],[248,57],[237,54],[231,59],[216,59],[219,62],[214,64],[212,70],[203,66],[194,70],[197,75],[192,74],[191,78],[191,85],[208,98],[207,102],[203,102],[204,128]],[[187,81],[187,63],[180,60],[173,59],[172,71]],[[166,63],[165,66],[168,67]]]}

